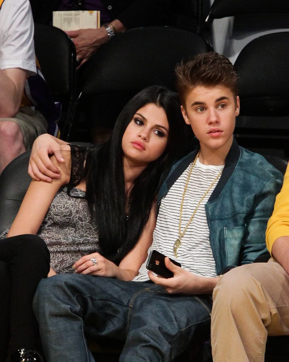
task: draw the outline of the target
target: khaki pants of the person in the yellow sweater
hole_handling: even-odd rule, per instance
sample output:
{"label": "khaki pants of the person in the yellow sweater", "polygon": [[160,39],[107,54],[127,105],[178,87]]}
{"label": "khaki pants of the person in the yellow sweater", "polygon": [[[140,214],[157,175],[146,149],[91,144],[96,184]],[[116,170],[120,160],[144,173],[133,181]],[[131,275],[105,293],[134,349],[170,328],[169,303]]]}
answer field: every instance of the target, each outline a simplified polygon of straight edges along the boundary
{"label": "khaki pants of the person in the yellow sweater", "polygon": [[272,258],[220,278],[213,292],[214,362],[262,362],[268,336],[289,334],[289,275]]}

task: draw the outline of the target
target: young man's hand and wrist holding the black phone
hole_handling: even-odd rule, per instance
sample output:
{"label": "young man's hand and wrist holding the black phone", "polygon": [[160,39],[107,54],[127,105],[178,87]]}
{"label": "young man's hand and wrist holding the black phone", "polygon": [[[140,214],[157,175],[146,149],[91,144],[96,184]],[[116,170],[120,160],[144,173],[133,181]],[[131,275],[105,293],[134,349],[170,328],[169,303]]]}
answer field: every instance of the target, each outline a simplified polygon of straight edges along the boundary
{"label": "young man's hand and wrist holding the black phone", "polygon": [[169,294],[211,293],[219,279],[195,275],[180,266],[174,265],[168,257],[165,257],[165,266],[174,273],[173,278],[156,277],[151,271],[148,271],[148,277],[155,284],[161,285]]}

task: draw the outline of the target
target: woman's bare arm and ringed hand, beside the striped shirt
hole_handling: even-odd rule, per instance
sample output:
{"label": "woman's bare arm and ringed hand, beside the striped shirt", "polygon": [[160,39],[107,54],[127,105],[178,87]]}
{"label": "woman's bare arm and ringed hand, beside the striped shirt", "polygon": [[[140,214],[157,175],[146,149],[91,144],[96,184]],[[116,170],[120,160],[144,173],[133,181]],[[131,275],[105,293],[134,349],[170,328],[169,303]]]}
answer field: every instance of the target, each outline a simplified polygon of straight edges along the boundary
{"label": "woman's bare arm and ringed hand, beside the striped shirt", "polygon": [[[76,273],[101,275],[103,277],[111,277],[129,281],[133,279],[146,260],[148,248],[151,246],[153,232],[156,226],[155,205],[153,205],[150,216],[143,229],[142,235],[139,238],[135,247],[122,259],[119,266],[112,261],[107,260],[99,253],[85,255],[80,258],[73,267]],[[95,258],[97,265],[93,266],[90,258]]]}

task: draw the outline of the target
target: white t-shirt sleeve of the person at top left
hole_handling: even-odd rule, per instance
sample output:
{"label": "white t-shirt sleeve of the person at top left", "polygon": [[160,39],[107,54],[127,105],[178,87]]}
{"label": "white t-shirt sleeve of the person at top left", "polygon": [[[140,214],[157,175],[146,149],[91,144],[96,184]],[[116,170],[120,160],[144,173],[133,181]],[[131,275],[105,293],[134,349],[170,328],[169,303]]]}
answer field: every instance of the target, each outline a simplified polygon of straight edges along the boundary
{"label": "white t-shirt sleeve of the person at top left", "polygon": [[4,0],[0,9],[0,69],[36,73],[34,25],[28,0]]}

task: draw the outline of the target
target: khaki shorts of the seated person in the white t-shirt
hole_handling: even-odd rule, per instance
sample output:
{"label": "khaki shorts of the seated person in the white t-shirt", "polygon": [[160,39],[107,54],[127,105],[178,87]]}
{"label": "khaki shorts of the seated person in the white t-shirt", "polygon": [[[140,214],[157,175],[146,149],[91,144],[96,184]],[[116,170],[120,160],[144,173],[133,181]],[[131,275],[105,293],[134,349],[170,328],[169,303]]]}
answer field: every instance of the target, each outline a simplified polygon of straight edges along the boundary
{"label": "khaki shorts of the seated person in the white t-shirt", "polygon": [[0,122],[2,121],[17,123],[23,135],[26,151],[31,149],[35,138],[47,132],[46,119],[42,113],[31,107],[22,107],[14,118],[0,118]]}

